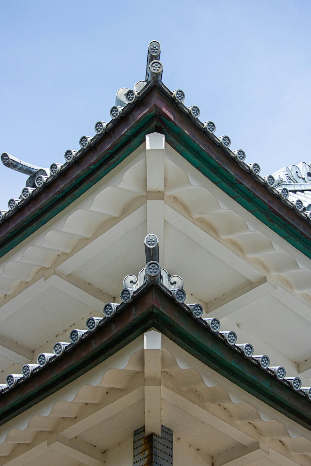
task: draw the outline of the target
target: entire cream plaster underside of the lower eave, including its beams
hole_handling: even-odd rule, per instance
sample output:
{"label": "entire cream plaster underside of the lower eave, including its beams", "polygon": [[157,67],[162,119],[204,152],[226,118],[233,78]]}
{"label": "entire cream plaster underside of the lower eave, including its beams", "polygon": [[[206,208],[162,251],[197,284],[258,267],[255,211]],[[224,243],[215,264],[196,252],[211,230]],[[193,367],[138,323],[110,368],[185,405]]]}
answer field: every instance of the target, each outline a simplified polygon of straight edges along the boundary
{"label": "entire cream plaster underside of the lower eave, including its beams", "polygon": [[151,331],[3,425],[0,464],[131,466],[133,431],[161,424],[180,466],[311,461],[309,431]]}

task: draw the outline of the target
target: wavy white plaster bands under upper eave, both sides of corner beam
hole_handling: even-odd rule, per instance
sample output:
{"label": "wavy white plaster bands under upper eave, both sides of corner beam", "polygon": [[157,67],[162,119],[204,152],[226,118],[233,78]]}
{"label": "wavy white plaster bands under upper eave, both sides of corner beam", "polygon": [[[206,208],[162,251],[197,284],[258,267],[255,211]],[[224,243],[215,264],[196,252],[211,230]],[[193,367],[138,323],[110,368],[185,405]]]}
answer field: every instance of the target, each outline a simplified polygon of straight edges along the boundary
{"label": "wavy white plaster bands under upper eave, both sides of corner beam", "polygon": [[[159,135],[153,135],[159,142]],[[166,204],[266,274],[271,283],[300,293],[302,301],[309,300],[310,260],[229,198],[168,144],[165,147]],[[163,145],[159,149],[163,150]],[[79,240],[84,247],[105,222],[124,218],[124,209],[133,201],[137,202],[134,210],[143,205],[148,177],[145,153],[142,144],[104,180],[4,256],[0,293],[10,295],[19,284],[34,277],[38,280],[47,268],[59,265],[62,257],[66,260],[74,248],[76,252]]]}

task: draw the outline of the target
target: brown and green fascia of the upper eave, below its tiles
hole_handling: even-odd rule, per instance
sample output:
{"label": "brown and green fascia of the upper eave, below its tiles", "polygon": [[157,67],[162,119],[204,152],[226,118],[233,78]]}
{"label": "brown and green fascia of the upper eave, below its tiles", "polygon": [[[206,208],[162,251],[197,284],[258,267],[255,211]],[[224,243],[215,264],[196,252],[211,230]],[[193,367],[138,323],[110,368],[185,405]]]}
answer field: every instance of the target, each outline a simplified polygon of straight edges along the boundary
{"label": "brown and green fascia of the upper eave, below its tiles", "polygon": [[149,82],[137,100],[128,104],[102,135],[94,137],[73,163],[0,224],[0,257],[97,183],[153,131],[165,134],[168,144],[204,176],[311,258],[311,225],[306,215],[290,208],[248,165],[237,163],[233,153],[222,147],[162,82]]}

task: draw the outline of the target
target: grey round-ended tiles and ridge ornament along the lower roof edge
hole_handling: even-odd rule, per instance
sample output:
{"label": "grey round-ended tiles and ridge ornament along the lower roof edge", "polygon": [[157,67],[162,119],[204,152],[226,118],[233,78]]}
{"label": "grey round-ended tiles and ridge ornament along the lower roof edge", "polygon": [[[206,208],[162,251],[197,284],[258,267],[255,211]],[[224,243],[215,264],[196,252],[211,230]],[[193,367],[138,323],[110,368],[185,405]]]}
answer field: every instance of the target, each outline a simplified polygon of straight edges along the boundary
{"label": "grey round-ended tiles and ridge ornament along the lower roof edge", "polygon": [[[146,290],[150,286],[155,285],[158,287],[164,295],[166,295],[169,300],[175,302],[180,311],[186,315],[189,315],[194,319],[196,324],[201,328],[205,329],[209,334],[213,336],[216,340],[220,341],[225,347],[229,348],[233,353],[238,357],[237,361],[240,361],[239,365],[241,366],[241,361],[246,360],[249,363],[249,372],[251,372],[251,366],[256,366],[257,370],[263,371],[267,377],[274,379],[278,384],[282,385],[288,393],[293,393],[298,398],[304,398],[307,402],[311,402],[311,387],[302,387],[302,382],[299,377],[286,377],[286,371],[283,366],[271,366],[270,359],[267,355],[254,355],[254,349],[251,343],[237,343],[237,336],[234,331],[221,331],[220,322],[217,318],[207,317],[202,318],[203,307],[199,303],[185,304],[186,293],[183,290],[183,281],[181,277],[177,275],[169,275],[165,269],[161,268],[158,260],[158,239],[156,235],[149,234],[145,238],[145,253],[146,253],[146,267],[142,269],[138,277],[134,275],[127,275],[124,278],[124,288],[120,293],[120,298],[122,300],[121,304],[117,303],[106,303],[104,306],[104,317],[89,317],[86,321],[86,329],[73,329],[70,332],[69,342],[57,342],[53,346],[53,353],[41,353],[37,357],[37,364],[24,364],[21,369],[21,374],[8,374],[6,378],[6,385],[0,385],[0,413],[1,405],[4,407],[6,405],[5,399],[10,393],[16,392],[16,395],[13,396],[12,400],[9,401],[9,404],[16,404],[18,396],[18,391],[21,390],[23,393],[22,386],[26,381],[33,378],[33,388],[34,391],[40,391],[41,380],[44,379],[44,383],[47,383],[45,378],[42,378],[42,375],[45,371],[48,371],[49,368],[52,368],[52,379],[57,377],[57,373],[53,369],[55,366],[53,363],[57,360],[61,360],[66,354],[75,350],[78,357],[72,358],[72,368],[75,366],[76,362],[79,360],[79,346],[84,342],[87,343],[90,337],[95,336],[100,329],[105,329],[110,322],[114,320],[116,315],[122,315],[122,312],[129,306],[131,302],[135,305],[135,301],[144,295]],[[135,318],[134,318],[135,321]],[[102,343],[102,342],[101,342]],[[125,341],[126,343],[126,341]],[[93,350],[93,345],[89,344],[89,352]],[[84,358],[86,355],[84,354]],[[227,363],[232,363],[232,359],[235,356],[227,357]],[[240,359],[242,358],[242,359]],[[62,364],[61,364],[62,368]],[[62,368],[63,369],[63,368]],[[80,373],[76,374],[76,377],[79,377]],[[245,374],[245,377],[247,373]],[[76,378],[73,377],[73,378]],[[62,377],[63,378],[63,377]],[[52,380],[48,385],[52,384]],[[270,387],[270,383],[266,384],[267,387]],[[256,391],[256,390],[255,390]],[[25,393],[23,393],[25,395]],[[48,392],[44,391],[44,394],[41,394],[41,398],[48,396]],[[291,398],[291,395],[287,395]],[[4,404],[3,404],[4,402]],[[25,404],[24,408],[21,408],[21,411],[27,409],[28,405]],[[310,405],[307,405],[306,409],[310,412]],[[7,406],[6,406],[7,409]],[[311,416],[310,416],[311,420]],[[5,416],[3,417],[3,422],[6,422]],[[1,425],[1,421],[0,421]],[[311,429],[311,423],[309,422],[309,429]]]}

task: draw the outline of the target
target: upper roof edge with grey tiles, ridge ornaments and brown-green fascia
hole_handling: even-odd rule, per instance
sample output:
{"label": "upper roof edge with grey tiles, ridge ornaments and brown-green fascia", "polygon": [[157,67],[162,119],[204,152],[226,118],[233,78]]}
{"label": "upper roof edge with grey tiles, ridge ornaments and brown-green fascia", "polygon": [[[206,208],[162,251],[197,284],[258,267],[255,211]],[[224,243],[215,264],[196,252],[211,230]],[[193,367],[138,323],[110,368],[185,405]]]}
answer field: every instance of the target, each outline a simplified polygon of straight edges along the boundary
{"label": "upper roof edge with grey tiles, ridge ornaments and brown-green fascia", "polygon": [[[283,175],[279,173],[282,180],[277,180],[273,175],[262,178],[259,164],[246,164],[242,149],[231,151],[231,140],[227,135],[214,135],[214,122],[200,122],[198,106],[185,106],[185,93],[181,89],[170,91],[166,88],[162,82],[163,65],[159,57],[160,43],[151,41],[145,80],[138,81],[133,89],[117,90],[116,104],[110,111],[111,121],[98,121],[95,136],[82,136],[80,149],[66,150],[63,164],[53,163],[49,169],[44,169],[14,158],[7,152],[1,155],[7,167],[30,176],[21,194],[9,199],[7,209],[0,210],[0,256],[44,225],[92,183],[96,183],[100,176],[116,166],[125,157],[119,154],[126,145],[129,151],[130,146],[134,148],[136,143],[142,144],[144,134],[158,131],[165,133],[175,148],[182,144],[177,150],[185,158],[191,159],[191,163],[205,176],[311,258],[311,232],[307,225],[307,222],[311,223],[311,203],[308,203],[306,194],[311,184],[305,183],[295,191],[289,189],[290,183],[283,186]],[[155,100],[151,97],[152,89]],[[189,157],[186,153],[190,154]],[[110,158],[114,159],[113,163]],[[307,170],[299,168],[295,176]],[[288,180],[294,172],[290,171]],[[308,176],[305,179],[309,180]],[[284,233],[286,229],[288,231]]]}

